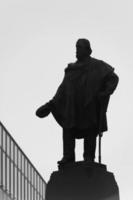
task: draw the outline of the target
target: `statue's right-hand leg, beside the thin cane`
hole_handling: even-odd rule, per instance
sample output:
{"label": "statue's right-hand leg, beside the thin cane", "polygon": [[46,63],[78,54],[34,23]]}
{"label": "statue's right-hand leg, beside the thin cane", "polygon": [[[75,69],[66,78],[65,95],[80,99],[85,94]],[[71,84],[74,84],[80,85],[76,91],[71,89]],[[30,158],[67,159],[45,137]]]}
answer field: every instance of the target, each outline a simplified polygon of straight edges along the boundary
{"label": "statue's right-hand leg, beside the thin cane", "polygon": [[96,133],[95,131],[86,130],[88,134],[84,137],[84,160],[85,161],[94,161],[95,151],[96,151]]}

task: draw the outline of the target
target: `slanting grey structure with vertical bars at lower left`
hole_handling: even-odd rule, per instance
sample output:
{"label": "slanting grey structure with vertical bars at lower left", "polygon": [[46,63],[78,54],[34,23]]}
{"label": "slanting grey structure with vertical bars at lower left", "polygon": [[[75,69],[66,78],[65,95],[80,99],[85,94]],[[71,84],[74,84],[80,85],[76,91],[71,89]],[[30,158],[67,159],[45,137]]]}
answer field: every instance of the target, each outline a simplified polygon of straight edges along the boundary
{"label": "slanting grey structure with vertical bars at lower left", "polygon": [[0,122],[0,188],[14,200],[44,200],[46,183]]}

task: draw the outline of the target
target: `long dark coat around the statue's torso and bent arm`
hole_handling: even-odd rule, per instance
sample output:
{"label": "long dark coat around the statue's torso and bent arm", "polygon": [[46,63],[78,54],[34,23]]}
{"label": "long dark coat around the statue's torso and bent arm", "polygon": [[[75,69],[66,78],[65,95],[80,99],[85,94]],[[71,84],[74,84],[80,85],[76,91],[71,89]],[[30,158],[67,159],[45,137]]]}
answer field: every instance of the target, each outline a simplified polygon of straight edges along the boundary
{"label": "long dark coat around the statue's torso and bent arm", "polygon": [[68,64],[52,99],[54,118],[63,128],[107,131],[107,106],[117,83],[114,68],[102,60]]}

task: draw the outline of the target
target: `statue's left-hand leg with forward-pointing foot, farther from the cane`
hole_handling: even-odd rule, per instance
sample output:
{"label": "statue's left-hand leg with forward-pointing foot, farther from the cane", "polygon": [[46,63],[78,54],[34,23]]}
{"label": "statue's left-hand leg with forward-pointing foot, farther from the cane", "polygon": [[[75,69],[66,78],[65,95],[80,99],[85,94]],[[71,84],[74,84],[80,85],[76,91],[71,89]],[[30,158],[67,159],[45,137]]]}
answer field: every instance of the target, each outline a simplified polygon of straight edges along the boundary
{"label": "statue's left-hand leg with forward-pointing foot, farther from the cane", "polygon": [[63,158],[58,164],[75,161],[75,137],[73,129],[63,128]]}

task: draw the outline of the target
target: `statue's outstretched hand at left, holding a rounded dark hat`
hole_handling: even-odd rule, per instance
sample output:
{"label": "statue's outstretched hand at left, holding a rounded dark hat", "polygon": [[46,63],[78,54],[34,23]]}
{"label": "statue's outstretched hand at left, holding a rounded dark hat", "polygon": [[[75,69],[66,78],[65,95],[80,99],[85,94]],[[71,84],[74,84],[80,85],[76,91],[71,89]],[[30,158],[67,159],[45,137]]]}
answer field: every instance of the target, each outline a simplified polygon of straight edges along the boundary
{"label": "statue's outstretched hand at left, holding a rounded dark hat", "polygon": [[40,108],[37,109],[36,111],[36,116],[43,118],[43,117],[47,117],[50,113],[50,107],[49,107],[49,103],[44,104],[43,106],[41,106]]}

